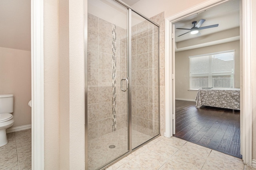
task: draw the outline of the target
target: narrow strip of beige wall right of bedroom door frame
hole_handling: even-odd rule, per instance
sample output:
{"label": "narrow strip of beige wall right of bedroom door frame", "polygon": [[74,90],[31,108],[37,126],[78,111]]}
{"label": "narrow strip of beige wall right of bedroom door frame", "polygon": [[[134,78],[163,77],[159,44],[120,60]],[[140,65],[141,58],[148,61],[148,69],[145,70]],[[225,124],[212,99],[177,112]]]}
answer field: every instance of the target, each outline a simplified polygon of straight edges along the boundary
{"label": "narrow strip of beige wall right of bedroom door frame", "polygon": [[256,160],[256,1],[252,0],[252,159]]}

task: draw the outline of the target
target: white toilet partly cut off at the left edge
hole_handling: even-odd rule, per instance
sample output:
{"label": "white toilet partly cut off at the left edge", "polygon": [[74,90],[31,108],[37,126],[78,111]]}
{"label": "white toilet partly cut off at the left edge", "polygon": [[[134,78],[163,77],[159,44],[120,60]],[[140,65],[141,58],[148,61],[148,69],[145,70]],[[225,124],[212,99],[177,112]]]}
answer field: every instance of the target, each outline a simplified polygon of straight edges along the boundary
{"label": "white toilet partly cut off at the left edge", "polygon": [[14,123],[13,94],[0,94],[0,147],[8,143],[6,129]]}

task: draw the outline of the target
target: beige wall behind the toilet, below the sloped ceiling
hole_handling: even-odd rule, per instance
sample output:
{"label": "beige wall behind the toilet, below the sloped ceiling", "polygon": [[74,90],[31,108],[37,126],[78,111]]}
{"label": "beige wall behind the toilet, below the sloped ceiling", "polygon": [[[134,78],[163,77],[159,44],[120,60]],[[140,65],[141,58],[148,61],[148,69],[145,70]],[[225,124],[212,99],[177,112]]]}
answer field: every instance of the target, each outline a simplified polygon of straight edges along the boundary
{"label": "beige wall behind the toilet, below the sloped ceiling", "polygon": [[31,124],[30,51],[0,47],[0,94],[14,94],[14,124]]}

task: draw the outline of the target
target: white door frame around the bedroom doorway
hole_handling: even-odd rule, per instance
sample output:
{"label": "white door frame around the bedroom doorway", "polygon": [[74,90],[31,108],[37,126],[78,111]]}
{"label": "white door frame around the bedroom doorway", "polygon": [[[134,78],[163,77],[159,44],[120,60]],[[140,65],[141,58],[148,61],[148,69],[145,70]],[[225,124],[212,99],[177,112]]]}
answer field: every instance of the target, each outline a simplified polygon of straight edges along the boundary
{"label": "white door frame around the bedroom doorway", "polygon": [[[174,74],[174,42],[172,39],[173,23],[212,6],[222,4],[228,0],[207,0],[192,8],[184,10],[165,19],[165,111],[166,111],[166,137],[171,137],[174,132],[175,115],[175,74]],[[252,97],[251,97],[251,60],[252,60],[252,0],[241,0],[242,25],[240,34],[240,70],[241,70],[241,150],[244,164],[252,165]]]}

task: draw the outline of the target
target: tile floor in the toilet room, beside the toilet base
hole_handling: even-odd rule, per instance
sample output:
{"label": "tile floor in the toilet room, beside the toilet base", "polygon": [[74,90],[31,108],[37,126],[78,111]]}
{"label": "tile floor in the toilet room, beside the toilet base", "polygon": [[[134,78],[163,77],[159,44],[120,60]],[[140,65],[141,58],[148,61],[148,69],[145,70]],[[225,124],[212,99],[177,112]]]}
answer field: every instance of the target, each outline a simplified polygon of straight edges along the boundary
{"label": "tile floor in the toilet room, beside the toilet base", "polygon": [[0,147],[0,170],[31,170],[31,129],[7,133]]}

